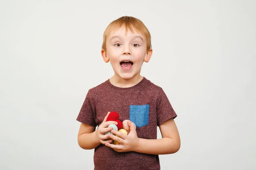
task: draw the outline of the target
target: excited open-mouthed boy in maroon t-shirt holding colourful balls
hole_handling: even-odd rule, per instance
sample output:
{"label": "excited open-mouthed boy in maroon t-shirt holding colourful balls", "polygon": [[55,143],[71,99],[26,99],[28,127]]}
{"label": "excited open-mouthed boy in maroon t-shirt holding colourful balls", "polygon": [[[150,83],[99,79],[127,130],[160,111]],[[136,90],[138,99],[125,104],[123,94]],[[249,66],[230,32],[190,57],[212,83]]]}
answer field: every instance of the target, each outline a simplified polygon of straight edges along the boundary
{"label": "excited open-mouthed boy in maroon t-shirt holding colourful balls", "polygon": [[[79,146],[95,148],[94,170],[160,170],[158,155],[177,152],[180,136],[173,120],[177,115],[163,89],[140,75],[152,55],[148,29],[134,17],[114,20],[104,32],[101,54],[114,75],[86,95],[77,117]],[[106,122],[111,111],[119,113],[119,120],[129,120],[128,135],[108,127],[117,125]],[[108,131],[113,135],[104,135]]]}

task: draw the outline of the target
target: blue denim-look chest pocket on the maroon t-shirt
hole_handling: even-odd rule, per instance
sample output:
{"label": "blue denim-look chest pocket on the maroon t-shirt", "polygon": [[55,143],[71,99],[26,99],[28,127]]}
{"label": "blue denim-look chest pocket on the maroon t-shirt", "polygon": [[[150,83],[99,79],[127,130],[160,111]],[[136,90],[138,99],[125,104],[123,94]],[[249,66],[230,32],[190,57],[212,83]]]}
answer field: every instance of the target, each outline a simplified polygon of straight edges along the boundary
{"label": "blue denim-look chest pocket on the maroon t-shirt", "polygon": [[136,127],[148,125],[149,105],[130,105],[130,120]]}

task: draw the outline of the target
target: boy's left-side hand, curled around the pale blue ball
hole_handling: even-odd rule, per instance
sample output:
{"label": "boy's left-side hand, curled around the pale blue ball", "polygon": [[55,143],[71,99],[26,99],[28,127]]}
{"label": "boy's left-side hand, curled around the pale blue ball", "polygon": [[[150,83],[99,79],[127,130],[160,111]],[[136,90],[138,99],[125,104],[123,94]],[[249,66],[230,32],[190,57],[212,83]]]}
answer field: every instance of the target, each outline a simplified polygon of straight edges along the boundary
{"label": "boy's left-side hand, curled around the pale blue ball", "polygon": [[[111,143],[112,139],[109,139],[108,135],[105,135],[105,133],[113,130],[113,127],[108,127],[111,124],[117,125],[117,122],[115,121],[108,121],[106,122],[108,115],[110,112],[108,112],[107,116],[105,116],[102,124],[99,125],[99,127],[97,128],[97,137],[99,139],[99,142],[101,142],[102,144],[106,144],[106,143]],[[109,140],[106,140],[109,139]]]}

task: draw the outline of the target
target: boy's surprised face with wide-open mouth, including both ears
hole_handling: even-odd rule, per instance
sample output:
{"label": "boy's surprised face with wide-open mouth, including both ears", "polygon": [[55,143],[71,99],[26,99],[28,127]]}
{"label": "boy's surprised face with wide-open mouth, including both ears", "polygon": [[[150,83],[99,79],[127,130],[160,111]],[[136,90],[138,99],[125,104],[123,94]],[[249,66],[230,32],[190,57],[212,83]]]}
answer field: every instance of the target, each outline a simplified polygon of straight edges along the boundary
{"label": "boy's surprised face with wide-open mouth, including both ears", "polygon": [[122,79],[139,77],[143,61],[148,62],[151,54],[152,50],[147,52],[142,34],[126,32],[123,27],[111,32],[106,40],[106,51],[102,50],[104,61],[110,61],[116,78]]}

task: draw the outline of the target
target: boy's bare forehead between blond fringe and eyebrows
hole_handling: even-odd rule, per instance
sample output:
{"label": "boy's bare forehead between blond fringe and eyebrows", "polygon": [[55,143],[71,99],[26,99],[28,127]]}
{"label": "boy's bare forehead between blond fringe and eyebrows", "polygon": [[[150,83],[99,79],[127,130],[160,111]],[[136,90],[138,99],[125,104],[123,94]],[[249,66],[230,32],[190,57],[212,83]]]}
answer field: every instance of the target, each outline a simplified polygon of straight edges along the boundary
{"label": "boy's bare forehead between blond fringe and eyebrows", "polygon": [[140,31],[136,29],[125,28],[124,26],[114,29],[110,32],[108,39],[110,40],[112,37],[141,37],[144,40],[144,35],[140,33]]}

